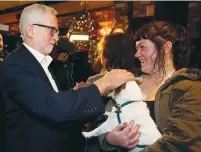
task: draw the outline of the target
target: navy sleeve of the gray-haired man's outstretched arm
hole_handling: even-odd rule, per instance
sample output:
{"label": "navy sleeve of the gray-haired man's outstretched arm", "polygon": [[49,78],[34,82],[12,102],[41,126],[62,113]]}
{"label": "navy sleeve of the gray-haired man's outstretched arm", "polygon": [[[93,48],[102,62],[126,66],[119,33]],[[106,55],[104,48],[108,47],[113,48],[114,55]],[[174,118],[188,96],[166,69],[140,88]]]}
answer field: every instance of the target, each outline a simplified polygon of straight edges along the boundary
{"label": "navy sleeve of the gray-haired man's outstretched arm", "polygon": [[29,66],[7,65],[1,72],[4,73],[1,89],[7,98],[36,115],[53,121],[67,121],[104,112],[104,104],[95,85],[57,93],[37,70]]}

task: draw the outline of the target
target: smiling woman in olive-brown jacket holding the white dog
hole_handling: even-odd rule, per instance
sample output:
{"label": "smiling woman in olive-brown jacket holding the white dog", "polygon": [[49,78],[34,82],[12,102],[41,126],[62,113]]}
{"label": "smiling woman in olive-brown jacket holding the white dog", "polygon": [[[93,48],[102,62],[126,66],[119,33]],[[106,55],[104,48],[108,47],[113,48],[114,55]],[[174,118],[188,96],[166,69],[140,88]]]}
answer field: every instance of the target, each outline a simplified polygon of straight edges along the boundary
{"label": "smiling woman in olive-brown jacket holding the white dog", "polygon": [[[151,22],[137,30],[134,41],[143,78],[140,88],[145,100],[155,101],[156,124],[163,134],[143,152],[200,151],[201,72],[185,68],[189,50],[186,29],[163,21]],[[138,134],[118,130],[121,126],[103,137],[102,149],[135,148],[119,135],[132,133],[136,142]]]}

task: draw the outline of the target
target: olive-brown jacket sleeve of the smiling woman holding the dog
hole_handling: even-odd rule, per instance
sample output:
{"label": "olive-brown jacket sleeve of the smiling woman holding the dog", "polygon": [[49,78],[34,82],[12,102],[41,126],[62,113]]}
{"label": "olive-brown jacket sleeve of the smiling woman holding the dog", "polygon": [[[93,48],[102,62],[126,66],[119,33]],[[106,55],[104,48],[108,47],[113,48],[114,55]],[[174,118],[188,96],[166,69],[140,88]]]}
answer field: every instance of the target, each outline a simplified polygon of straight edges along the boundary
{"label": "olive-brown jacket sleeve of the smiling woman holding the dog", "polygon": [[200,151],[201,85],[198,81],[185,82],[170,92],[172,106],[162,138],[142,152]]}

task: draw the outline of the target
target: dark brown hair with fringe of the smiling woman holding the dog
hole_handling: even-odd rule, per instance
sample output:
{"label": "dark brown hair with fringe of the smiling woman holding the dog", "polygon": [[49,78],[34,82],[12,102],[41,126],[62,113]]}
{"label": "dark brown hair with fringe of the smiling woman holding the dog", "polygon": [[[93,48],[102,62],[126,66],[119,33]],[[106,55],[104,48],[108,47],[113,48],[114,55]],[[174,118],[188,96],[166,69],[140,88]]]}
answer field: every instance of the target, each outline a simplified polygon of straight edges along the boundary
{"label": "dark brown hair with fringe of the smiling woman holding the dog", "polygon": [[[187,52],[189,49],[189,39],[186,29],[177,24],[167,23],[165,21],[153,21],[139,28],[134,34],[134,42],[141,39],[151,40],[157,48],[157,57],[154,68],[165,72],[165,51],[164,44],[167,41],[172,43],[173,64],[176,70],[187,67]],[[154,69],[153,69],[154,70]],[[163,76],[164,76],[163,75]]]}

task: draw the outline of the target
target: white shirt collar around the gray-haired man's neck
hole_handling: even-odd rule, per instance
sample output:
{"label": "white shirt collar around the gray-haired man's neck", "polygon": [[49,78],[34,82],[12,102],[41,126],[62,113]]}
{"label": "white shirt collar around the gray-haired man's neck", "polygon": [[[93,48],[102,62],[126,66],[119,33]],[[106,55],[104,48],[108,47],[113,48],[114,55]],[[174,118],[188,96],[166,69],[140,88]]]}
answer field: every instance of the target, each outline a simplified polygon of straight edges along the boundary
{"label": "white shirt collar around the gray-haired man's neck", "polygon": [[44,65],[46,67],[48,67],[50,65],[50,63],[52,62],[52,57],[47,55],[43,55],[42,53],[40,53],[39,51],[31,48],[30,46],[28,46],[27,44],[23,43],[23,45],[31,52],[31,54],[33,54],[33,56],[36,58],[36,60],[41,64]]}

